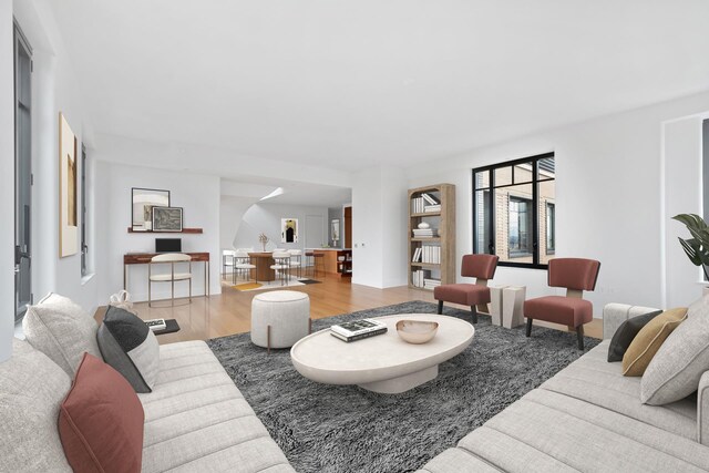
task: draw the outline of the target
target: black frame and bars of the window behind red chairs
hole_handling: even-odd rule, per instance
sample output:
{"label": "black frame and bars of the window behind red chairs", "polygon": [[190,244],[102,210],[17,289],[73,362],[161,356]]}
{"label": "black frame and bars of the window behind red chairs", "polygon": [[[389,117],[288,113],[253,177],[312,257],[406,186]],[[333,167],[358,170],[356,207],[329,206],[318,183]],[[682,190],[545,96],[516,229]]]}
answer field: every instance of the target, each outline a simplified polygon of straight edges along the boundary
{"label": "black frame and bars of the window behind red chairs", "polygon": [[[503,163],[495,163],[495,164],[490,164],[486,166],[481,166],[481,167],[475,167],[473,168],[472,173],[471,173],[471,179],[472,179],[472,194],[473,194],[473,212],[472,212],[472,218],[473,218],[473,253],[476,254],[486,254],[486,255],[496,255],[495,251],[495,247],[494,247],[494,238],[496,236],[496,229],[495,229],[495,225],[496,225],[496,208],[494,205],[494,198],[495,198],[495,189],[499,188],[504,188],[504,187],[514,187],[517,185],[522,185],[522,184],[527,184],[527,183],[515,183],[514,182],[514,168],[515,166],[520,165],[520,164],[532,164],[532,181],[528,183],[532,185],[532,228],[533,228],[533,235],[532,235],[532,263],[515,263],[515,261],[499,261],[497,266],[502,266],[502,267],[511,267],[511,268],[528,268],[528,269],[547,269],[548,268],[548,264],[542,264],[540,263],[540,218],[542,218],[542,216],[540,216],[540,189],[538,189],[538,185],[540,183],[544,183],[544,182],[548,182],[548,181],[556,181],[556,172],[554,173],[554,177],[551,178],[540,178],[540,162],[542,160],[547,160],[549,157],[553,157],[556,160],[555,157],[555,153],[554,152],[549,152],[549,153],[543,153],[543,154],[537,154],[537,155],[533,155],[533,156],[527,156],[527,157],[522,157],[518,160],[512,160],[512,161],[505,161]],[[555,162],[556,165],[556,162]],[[500,186],[495,186],[495,169],[501,169],[504,167],[512,167],[512,173],[513,173],[513,181],[512,184],[504,184],[504,185],[500,185]],[[485,187],[481,187],[477,188],[477,186],[475,185],[475,175],[477,173],[483,173],[483,172],[489,172],[487,175],[487,186]],[[485,203],[483,202],[482,205],[483,207],[485,207],[485,205],[490,208],[490,218],[489,222],[486,223],[486,228],[485,232],[490,235],[490,238],[492,238],[492,241],[487,241],[486,247],[484,248],[483,251],[479,251],[477,248],[477,237],[479,237],[479,225],[477,225],[477,206],[481,204],[477,200],[477,193],[481,193],[483,195],[483,199],[487,199],[489,202]],[[485,195],[486,194],[486,195]],[[554,202],[554,210],[555,210],[555,215],[554,215],[554,225],[556,225],[556,202]],[[554,247],[556,247],[556,229],[554,232]],[[546,246],[546,241],[543,243],[543,245]],[[548,253],[547,253],[548,254]]]}

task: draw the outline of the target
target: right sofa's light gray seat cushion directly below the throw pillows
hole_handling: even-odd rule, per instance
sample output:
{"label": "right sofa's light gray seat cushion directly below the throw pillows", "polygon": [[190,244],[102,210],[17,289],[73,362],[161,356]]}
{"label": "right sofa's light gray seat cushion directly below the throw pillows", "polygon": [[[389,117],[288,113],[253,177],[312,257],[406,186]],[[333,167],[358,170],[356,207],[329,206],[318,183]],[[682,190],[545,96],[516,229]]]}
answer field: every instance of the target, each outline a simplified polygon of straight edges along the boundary
{"label": "right sofa's light gray seat cushion directly below the throw pillows", "polygon": [[697,402],[682,399],[661,408],[640,402],[640,378],[624,377],[619,363],[606,361],[605,340],[542,384],[542,389],[617,412],[677,435],[696,439]]}

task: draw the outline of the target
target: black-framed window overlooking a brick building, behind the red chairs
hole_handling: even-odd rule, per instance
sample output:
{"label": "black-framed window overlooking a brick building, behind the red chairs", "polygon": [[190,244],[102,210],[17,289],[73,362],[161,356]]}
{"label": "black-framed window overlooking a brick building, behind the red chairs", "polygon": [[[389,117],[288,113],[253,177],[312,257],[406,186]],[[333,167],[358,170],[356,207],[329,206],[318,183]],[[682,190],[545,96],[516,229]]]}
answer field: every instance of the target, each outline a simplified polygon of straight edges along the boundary
{"label": "black-framed window overlooking a brick building, behind the red chairs", "polygon": [[554,153],[473,169],[473,248],[500,266],[546,268],[556,249]]}

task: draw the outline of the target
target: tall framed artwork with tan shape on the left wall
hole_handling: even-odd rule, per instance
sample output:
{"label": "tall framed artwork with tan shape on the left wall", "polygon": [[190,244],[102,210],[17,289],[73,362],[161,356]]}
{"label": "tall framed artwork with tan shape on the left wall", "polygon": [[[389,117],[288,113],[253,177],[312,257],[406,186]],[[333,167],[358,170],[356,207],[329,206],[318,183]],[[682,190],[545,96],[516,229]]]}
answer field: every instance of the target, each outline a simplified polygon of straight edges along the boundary
{"label": "tall framed artwork with tan shape on the left wall", "polygon": [[76,135],[59,113],[59,257],[79,253]]}

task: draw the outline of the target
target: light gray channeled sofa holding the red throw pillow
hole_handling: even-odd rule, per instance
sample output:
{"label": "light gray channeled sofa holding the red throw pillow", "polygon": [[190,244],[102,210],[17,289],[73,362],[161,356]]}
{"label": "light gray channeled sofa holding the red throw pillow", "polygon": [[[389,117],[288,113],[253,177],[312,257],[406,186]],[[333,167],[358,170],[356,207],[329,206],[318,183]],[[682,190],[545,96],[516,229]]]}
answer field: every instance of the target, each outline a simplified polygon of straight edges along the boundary
{"label": "light gray channeled sofa holding the red throw pillow", "polygon": [[[0,472],[72,471],[56,425],[70,387],[48,354],[14,341],[0,363]],[[203,341],[161,346],[153,392],[138,399],[143,472],[295,472]]]}

